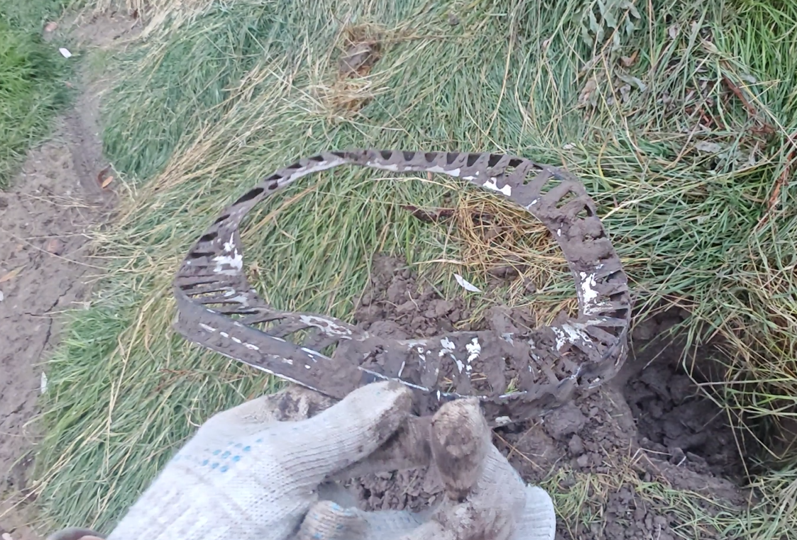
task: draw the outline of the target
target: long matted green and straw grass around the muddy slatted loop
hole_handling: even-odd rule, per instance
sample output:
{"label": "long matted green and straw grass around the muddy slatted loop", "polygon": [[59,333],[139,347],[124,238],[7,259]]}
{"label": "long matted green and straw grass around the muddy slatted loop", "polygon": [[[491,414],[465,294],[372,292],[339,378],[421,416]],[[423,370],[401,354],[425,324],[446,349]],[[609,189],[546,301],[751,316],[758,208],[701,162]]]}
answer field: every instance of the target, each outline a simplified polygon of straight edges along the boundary
{"label": "long matted green and straw grass around the muddy slatted loop", "polygon": [[[53,521],[112,526],[198,423],[273,386],[175,336],[169,282],[225,204],[324,149],[506,151],[566,165],[599,202],[638,317],[689,309],[681,331],[691,344],[721,338],[729,355],[715,397],[757,421],[793,417],[795,182],[772,194],[794,176],[797,8],[637,3],[639,17],[608,16],[618,33],[600,15],[590,24],[575,0],[234,2],[167,13],[116,59],[105,103],[106,151],[133,196],[98,235],[108,278],[49,366],[37,477]],[[336,84],[344,20],[378,24],[385,37],[356,88]],[[595,91],[578,107],[590,79]],[[355,91],[371,95],[358,115],[335,107]],[[268,301],[348,318],[375,251],[405,254],[447,294],[461,294],[455,270],[484,282],[477,264],[431,262],[463,258],[460,233],[398,208],[442,204],[459,185],[379,178],[324,173],[249,219],[249,274]],[[549,268],[537,297],[506,292],[550,313],[566,305],[571,282],[559,262],[540,260]],[[768,504],[751,523],[768,529],[753,538],[797,526],[789,470],[760,477]]]}

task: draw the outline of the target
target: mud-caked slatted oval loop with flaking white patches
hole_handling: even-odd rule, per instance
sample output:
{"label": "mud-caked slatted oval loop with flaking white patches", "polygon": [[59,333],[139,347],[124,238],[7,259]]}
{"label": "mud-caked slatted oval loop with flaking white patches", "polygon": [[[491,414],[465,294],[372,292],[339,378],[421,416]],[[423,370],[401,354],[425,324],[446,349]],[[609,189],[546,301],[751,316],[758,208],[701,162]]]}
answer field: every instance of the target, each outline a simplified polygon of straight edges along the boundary
{"label": "mud-caked slatted oval loop with flaking white patches", "polygon": [[[334,317],[269,306],[249,285],[238,227],[258,202],[311,173],[360,165],[442,173],[508,197],[548,227],[575,278],[579,315],[512,332],[450,332],[391,340]],[[175,328],[187,340],[332,398],[394,379],[417,390],[422,413],[481,398],[493,425],[529,418],[598,387],[626,357],[631,298],[595,203],[569,173],[497,153],[328,152],[280,169],[230,204],[180,266]],[[334,354],[322,351],[337,345]]]}

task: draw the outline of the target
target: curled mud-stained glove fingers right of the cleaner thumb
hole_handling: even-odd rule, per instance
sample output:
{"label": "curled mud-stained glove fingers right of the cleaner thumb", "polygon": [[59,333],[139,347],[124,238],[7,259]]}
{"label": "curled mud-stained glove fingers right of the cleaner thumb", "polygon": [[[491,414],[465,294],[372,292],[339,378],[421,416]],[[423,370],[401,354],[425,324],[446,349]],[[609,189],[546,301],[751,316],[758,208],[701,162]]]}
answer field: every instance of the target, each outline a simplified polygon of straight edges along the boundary
{"label": "curled mud-stained glove fingers right of the cleaner thumb", "polygon": [[[413,422],[414,421],[414,422]],[[475,398],[446,403],[431,419],[410,419],[397,437],[340,476],[428,464],[444,487],[441,504],[422,514],[360,511],[340,491],[314,504],[296,540],[553,540],[551,497],[526,486],[493,446]],[[410,456],[408,459],[407,456]]]}

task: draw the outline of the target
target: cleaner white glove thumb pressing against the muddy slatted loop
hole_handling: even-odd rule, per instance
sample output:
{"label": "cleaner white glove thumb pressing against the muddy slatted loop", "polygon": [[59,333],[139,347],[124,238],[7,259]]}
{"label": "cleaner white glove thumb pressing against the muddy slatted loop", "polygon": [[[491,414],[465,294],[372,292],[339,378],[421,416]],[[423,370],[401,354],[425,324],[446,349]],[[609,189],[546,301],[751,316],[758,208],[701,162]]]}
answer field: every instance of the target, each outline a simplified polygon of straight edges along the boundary
{"label": "cleaner white glove thumb pressing against the muddy slatted loop", "polygon": [[411,406],[402,384],[372,383],[308,420],[274,424],[268,434],[285,449],[281,467],[301,483],[320,484],[383,445]]}

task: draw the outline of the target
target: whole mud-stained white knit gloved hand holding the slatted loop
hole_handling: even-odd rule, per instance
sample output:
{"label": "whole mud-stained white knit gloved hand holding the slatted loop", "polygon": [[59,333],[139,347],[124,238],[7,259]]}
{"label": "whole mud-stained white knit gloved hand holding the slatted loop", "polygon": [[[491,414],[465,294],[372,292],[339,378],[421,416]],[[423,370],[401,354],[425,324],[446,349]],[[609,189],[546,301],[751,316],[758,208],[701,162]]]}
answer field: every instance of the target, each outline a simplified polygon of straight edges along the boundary
{"label": "whole mud-stained white knit gloved hand holding the slatted loop", "polygon": [[[108,540],[551,540],[555,516],[491,444],[475,400],[434,418],[409,414],[398,383],[334,403],[291,387],[210,418]],[[387,444],[386,444],[387,442]],[[433,463],[446,497],[423,515],[363,512],[320,500],[329,480]],[[48,540],[77,540],[66,529]],[[92,539],[89,539],[92,540]]]}

